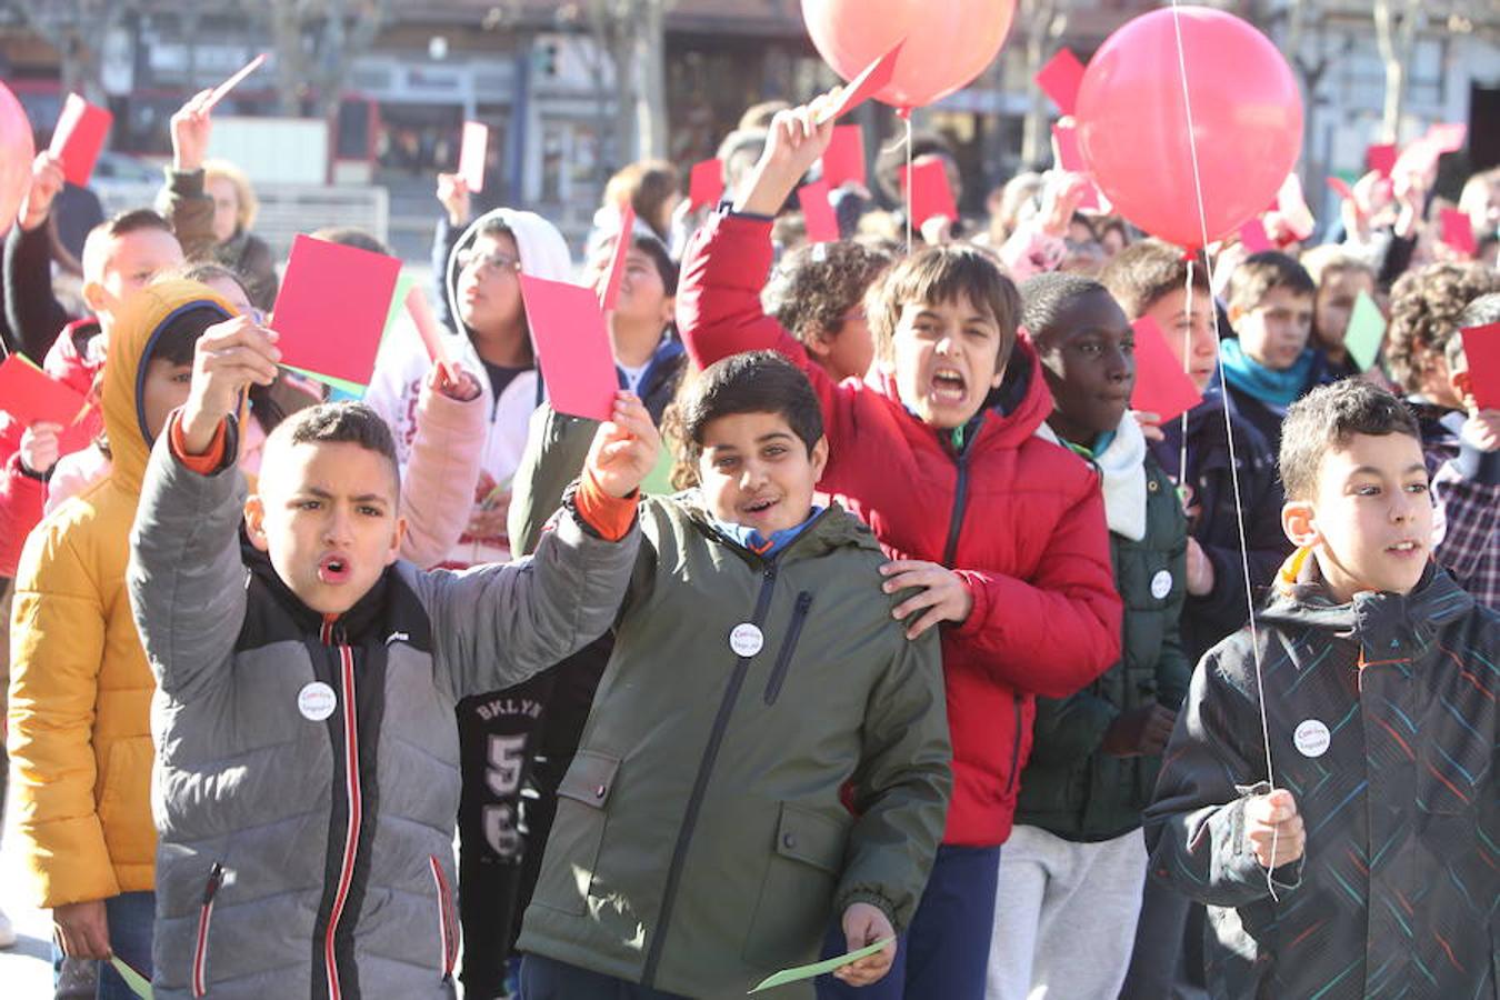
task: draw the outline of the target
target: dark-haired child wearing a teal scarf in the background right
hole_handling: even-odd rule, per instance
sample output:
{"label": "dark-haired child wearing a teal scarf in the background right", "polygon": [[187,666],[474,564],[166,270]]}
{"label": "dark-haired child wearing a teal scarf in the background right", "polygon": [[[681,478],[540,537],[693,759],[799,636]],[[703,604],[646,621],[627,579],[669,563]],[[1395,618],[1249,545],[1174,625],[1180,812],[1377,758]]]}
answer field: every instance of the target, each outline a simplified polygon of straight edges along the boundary
{"label": "dark-haired child wearing a teal scarf in the background right", "polygon": [[1329,381],[1328,363],[1308,346],[1317,285],[1286,253],[1251,253],[1228,282],[1228,321],[1238,337],[1220,345],[1234,412],[1270,444],[1281,442],[1287,406]]}

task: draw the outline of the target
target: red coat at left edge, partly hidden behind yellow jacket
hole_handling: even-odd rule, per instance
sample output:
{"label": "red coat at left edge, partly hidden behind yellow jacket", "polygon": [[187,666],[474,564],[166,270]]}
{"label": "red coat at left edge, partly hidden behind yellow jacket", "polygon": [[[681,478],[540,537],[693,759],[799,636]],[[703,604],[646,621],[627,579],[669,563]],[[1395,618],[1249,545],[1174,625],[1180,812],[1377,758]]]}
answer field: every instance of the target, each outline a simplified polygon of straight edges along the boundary
{"label": "red coat at left edge, partly hidden behind yellow jacket", "polygon": [[[42,370],[88,394],[100,363],[90,361],[82,351],[99,333],[99,321],[88,318],[63,327],[62,336],[42,360]],[[98,406],[81,421],[78,432],[63,436],[63,447],[93,438],[104,426]],[[21,471],[21,435],[26,426],[10,414],[0,412],[0,577],[15,576],[21,546],[42,520],[46,483]],[[62,456],[58,456],[62,457]]]}

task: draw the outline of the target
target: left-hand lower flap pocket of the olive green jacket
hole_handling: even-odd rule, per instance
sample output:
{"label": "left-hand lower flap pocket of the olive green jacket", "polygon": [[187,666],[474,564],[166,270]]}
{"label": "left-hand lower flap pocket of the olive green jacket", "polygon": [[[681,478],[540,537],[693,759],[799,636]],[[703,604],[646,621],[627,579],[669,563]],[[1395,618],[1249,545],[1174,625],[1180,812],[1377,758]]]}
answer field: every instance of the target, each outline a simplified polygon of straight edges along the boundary
{"label": "left-hand lower flap pocket of the olive green jacket", "polygon": [[558,786],[558,813],[537,877],[537,903],[582,916],[604,843],[604,819],[620,760],[588,750],[573,757]]}

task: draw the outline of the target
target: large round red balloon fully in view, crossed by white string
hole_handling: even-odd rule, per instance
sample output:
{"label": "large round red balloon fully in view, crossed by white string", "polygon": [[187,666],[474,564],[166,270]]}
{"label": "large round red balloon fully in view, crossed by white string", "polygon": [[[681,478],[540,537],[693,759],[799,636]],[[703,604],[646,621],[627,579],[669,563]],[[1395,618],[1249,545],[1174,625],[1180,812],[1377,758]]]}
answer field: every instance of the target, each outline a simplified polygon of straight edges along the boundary
{"label": "large round red balloon fully in view, crossed by white string", "polygon": [[[1192,178],[1197,144],[1212,243],[1266,210],[1302,148],[1302,94],[1264,34],[1208,7],[1162,7],[1104,40],[1078,90],[1078,148],[1114,208],[1184,247],[1202,247]],[[1182,66],[1188,102],[1184,102]]]}

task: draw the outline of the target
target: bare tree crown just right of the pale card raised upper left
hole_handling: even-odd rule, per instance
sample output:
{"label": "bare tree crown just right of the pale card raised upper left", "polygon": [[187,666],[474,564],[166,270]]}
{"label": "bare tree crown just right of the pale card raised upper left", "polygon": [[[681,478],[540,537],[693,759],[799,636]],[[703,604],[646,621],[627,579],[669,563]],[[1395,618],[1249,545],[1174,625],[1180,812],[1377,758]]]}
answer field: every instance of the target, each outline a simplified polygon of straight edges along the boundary
{"label": "bare tree crown just right of the pale card raised upper left", "polygon": [[276,90],[282,114],[304,105],[320,118],[339,109],[354,60],[390,16],[392,0],[266,0],[252,4],[276,43]]}

